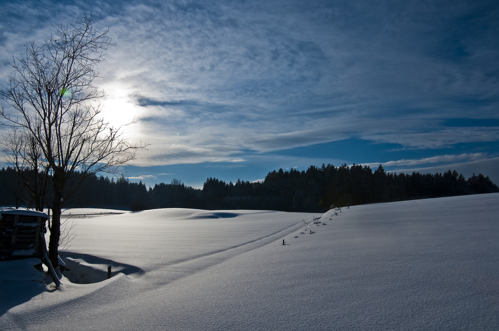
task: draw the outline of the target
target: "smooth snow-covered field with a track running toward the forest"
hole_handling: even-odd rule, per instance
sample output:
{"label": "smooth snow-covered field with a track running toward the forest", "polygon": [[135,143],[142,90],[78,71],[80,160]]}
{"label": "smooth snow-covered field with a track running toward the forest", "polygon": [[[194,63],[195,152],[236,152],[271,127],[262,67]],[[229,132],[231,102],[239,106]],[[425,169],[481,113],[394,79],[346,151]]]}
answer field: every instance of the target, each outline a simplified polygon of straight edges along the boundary
{"label": "smooth snow-covered field with a track running toward the forest", "polygon": [[353,206],[312,234],[319,214],[90,213],[64,255],[80,284],[0,281],[0,330],[499,330],[498,193]]}

